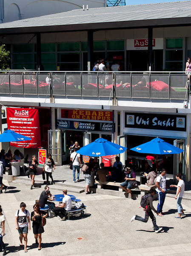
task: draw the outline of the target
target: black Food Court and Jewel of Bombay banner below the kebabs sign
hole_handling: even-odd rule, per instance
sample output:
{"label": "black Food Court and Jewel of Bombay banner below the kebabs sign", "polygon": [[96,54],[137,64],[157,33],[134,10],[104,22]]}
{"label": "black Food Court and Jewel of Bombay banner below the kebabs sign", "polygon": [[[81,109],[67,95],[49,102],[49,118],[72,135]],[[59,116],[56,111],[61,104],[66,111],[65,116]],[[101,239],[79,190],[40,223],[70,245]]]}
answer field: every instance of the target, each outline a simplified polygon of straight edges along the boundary
{"label": "black Food Court and Jewel of Bombay banner below the kebabs sign", "polygon": [[57,128],[66,129],[66,130],[77,129],[77,130],[113,132],[114,126],[112,123],[57,120]]}

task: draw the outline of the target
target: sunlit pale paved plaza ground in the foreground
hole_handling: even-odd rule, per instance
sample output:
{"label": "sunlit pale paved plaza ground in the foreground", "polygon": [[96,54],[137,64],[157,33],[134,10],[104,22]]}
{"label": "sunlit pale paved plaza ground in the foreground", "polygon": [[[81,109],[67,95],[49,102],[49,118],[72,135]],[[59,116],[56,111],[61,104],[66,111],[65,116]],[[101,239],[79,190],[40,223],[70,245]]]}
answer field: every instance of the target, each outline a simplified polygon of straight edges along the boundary
{"label": "sunlit pale paved plaza ground in the foreground", "polygon": [[[67,178],[72,181],[72,171],[70,176],[70,173],[63,169],[63,177],[58,175],[57,171],[53,174],[55,179],[61,181]],[[37,178],[41,179],[41,176]],[[5,194],[0,194],[0,204],[6,215],[6,236],[3,240],[10,253],[14,252],[14,255],[22,256],[24,251],[18,247],[19,238],[14,225],[14,214],[19,209],[21,201],[26,203],[26,209],[31,212],[42,188],[30,190],[29,186],[15,185],[11,182],[9,185],[11,189],[8,189]],[[57,191],[52,189],[51,193],[57,194]],[[190,201],[183,201],[182,206],[186,215],[182,220],[177,220],[174,219],[177,215],[175,200],[167,197],[164,205],[166,215],[157,217],[157,224],[163,227],[163,231],[156,234],[151,220],[146,224],[139,221],[130,223],[133,215],[144,215],[143,210],[139,208],[138,200],[102,194],[82,193],[75,194],[75,196],[87,206],[87,213],[84,217],[66,221],[59,221],[56,217],[47,219],[42,236],[42,250],[37,250],[33,233],[30,231],[27,255],[177,256],[180,253],[181,256],[191,255]],[[154,205],[156,206],[157,202],[154,202]]]}

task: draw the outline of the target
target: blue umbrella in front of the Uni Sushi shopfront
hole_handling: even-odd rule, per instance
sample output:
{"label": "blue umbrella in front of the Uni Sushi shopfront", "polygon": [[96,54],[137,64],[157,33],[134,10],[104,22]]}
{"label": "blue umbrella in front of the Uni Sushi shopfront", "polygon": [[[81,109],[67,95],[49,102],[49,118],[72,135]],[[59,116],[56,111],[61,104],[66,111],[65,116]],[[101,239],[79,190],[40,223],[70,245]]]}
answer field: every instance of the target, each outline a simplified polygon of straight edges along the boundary
{"label": "blue umbrella in front of the Uni Sushi shopfront", "polygon": [[184,151],[178,147],[174,147],[173,145],[163,141],[161,138],[158,137],[137,147],[132,147],[131,150],[139,153],[155,155],[180,154]]}

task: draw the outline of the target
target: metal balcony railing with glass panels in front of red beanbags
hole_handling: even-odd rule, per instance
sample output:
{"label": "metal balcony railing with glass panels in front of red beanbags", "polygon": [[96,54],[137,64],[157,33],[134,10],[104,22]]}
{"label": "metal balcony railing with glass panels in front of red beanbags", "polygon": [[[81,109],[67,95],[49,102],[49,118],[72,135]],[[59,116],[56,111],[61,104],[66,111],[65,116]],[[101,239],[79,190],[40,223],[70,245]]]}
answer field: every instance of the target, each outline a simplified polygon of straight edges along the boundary
{"label": "metal balcony railing with glass panels in front of red beanbags", "polygon": [[185,72],[0,71],[0,94],[185,100]]}

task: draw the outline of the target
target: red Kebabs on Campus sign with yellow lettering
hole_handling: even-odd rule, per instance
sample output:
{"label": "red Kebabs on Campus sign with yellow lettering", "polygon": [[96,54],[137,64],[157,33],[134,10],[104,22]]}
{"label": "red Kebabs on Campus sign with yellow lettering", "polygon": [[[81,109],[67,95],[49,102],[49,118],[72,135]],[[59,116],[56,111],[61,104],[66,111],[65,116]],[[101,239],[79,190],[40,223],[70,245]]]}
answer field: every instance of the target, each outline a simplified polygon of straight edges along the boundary
{"label": "red Kebabs on Campus sign with yellow lettering", "polygon": [[113,112],[112,111],[61,109],[61,118],[112,121]]}

